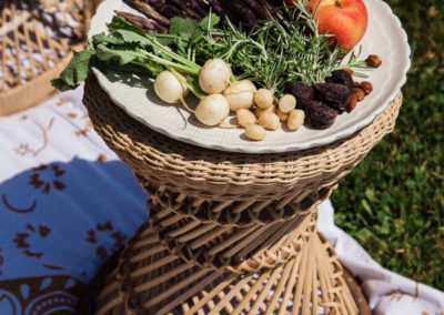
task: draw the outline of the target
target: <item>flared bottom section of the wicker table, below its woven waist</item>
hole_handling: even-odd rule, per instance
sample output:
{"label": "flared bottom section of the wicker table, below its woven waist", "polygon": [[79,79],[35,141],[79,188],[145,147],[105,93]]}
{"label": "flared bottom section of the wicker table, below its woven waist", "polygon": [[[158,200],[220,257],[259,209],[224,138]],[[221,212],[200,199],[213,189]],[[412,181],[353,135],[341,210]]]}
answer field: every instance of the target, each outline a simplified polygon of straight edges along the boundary
{"label": "flared bottom section of the wicker table, below its woven waist", "polygon": [[108,276],[94,314],[359,314],[356,305],[336,255],[316,233],[287,263],[240,275],[182,261],[147,226]]}

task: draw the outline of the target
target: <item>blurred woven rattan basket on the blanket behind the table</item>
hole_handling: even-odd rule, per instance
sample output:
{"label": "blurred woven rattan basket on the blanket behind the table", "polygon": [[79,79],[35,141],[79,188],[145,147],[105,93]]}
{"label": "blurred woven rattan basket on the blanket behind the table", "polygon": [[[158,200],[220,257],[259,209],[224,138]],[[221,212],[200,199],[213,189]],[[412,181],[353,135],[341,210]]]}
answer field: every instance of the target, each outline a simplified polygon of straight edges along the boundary
{"label": "blurred woven rattan basket on the blanket behind the table", "polygon": [[38,104],[84,44],[97,1],[0,1],[0,115]]}

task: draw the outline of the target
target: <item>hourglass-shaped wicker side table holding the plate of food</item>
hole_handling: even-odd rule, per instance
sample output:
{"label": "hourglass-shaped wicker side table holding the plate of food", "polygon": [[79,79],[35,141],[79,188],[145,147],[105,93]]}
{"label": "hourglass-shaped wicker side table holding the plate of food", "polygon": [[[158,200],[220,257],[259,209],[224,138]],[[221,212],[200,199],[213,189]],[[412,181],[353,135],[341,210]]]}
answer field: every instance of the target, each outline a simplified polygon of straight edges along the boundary
{"label": "hourglass-shaped wicker side table holding the plate of food", "polygon": [[175,142],[130,119],[94,79],[84,103],[151,195],[150,222],[107,277],[95,314],[369,314],[316,231],[317,204],[393,130],[401,94],[349,139],[270,155]]}

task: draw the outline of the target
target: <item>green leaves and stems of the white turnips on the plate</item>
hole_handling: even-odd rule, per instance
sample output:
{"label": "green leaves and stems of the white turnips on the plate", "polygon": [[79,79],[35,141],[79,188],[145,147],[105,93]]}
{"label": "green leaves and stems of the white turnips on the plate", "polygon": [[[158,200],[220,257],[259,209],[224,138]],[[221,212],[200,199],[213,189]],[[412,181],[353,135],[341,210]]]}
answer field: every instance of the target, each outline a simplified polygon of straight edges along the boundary
{"label": "green leaves and stems of the white turnips on the plate", "polygon": [[202,96],[196,84],[201,65],[195,62],[195,50],[192,48],[204,39],[204,30],[219,20],[216,16],[210,16],[195,23],[175,18],[171,21],[169,33],[159,34],[114,17],[108,26],[110,33],[94,35],[87,50],[75,52],[67,69],[52,84],[61,91],[74,89],[88,79],[92,67],[133,73],[148,72],[152,77],[169,69],[178,73],[196,96]]}

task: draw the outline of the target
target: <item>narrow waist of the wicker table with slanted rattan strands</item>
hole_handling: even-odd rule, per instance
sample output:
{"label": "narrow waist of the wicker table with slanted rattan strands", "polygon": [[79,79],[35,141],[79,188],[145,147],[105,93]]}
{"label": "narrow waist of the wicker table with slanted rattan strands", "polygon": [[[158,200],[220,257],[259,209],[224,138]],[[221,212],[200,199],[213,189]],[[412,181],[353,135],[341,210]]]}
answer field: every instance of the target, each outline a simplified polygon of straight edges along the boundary
{"label": "narrow waist of the wicker table with slanted rattan strands", "polygon": [[232,227],[201,223],[155,201],[151,210],[153,234],[172,253],[204,268],[233,273],[260,272],[286,263],[316,230],[313,211],[283,224]]}

